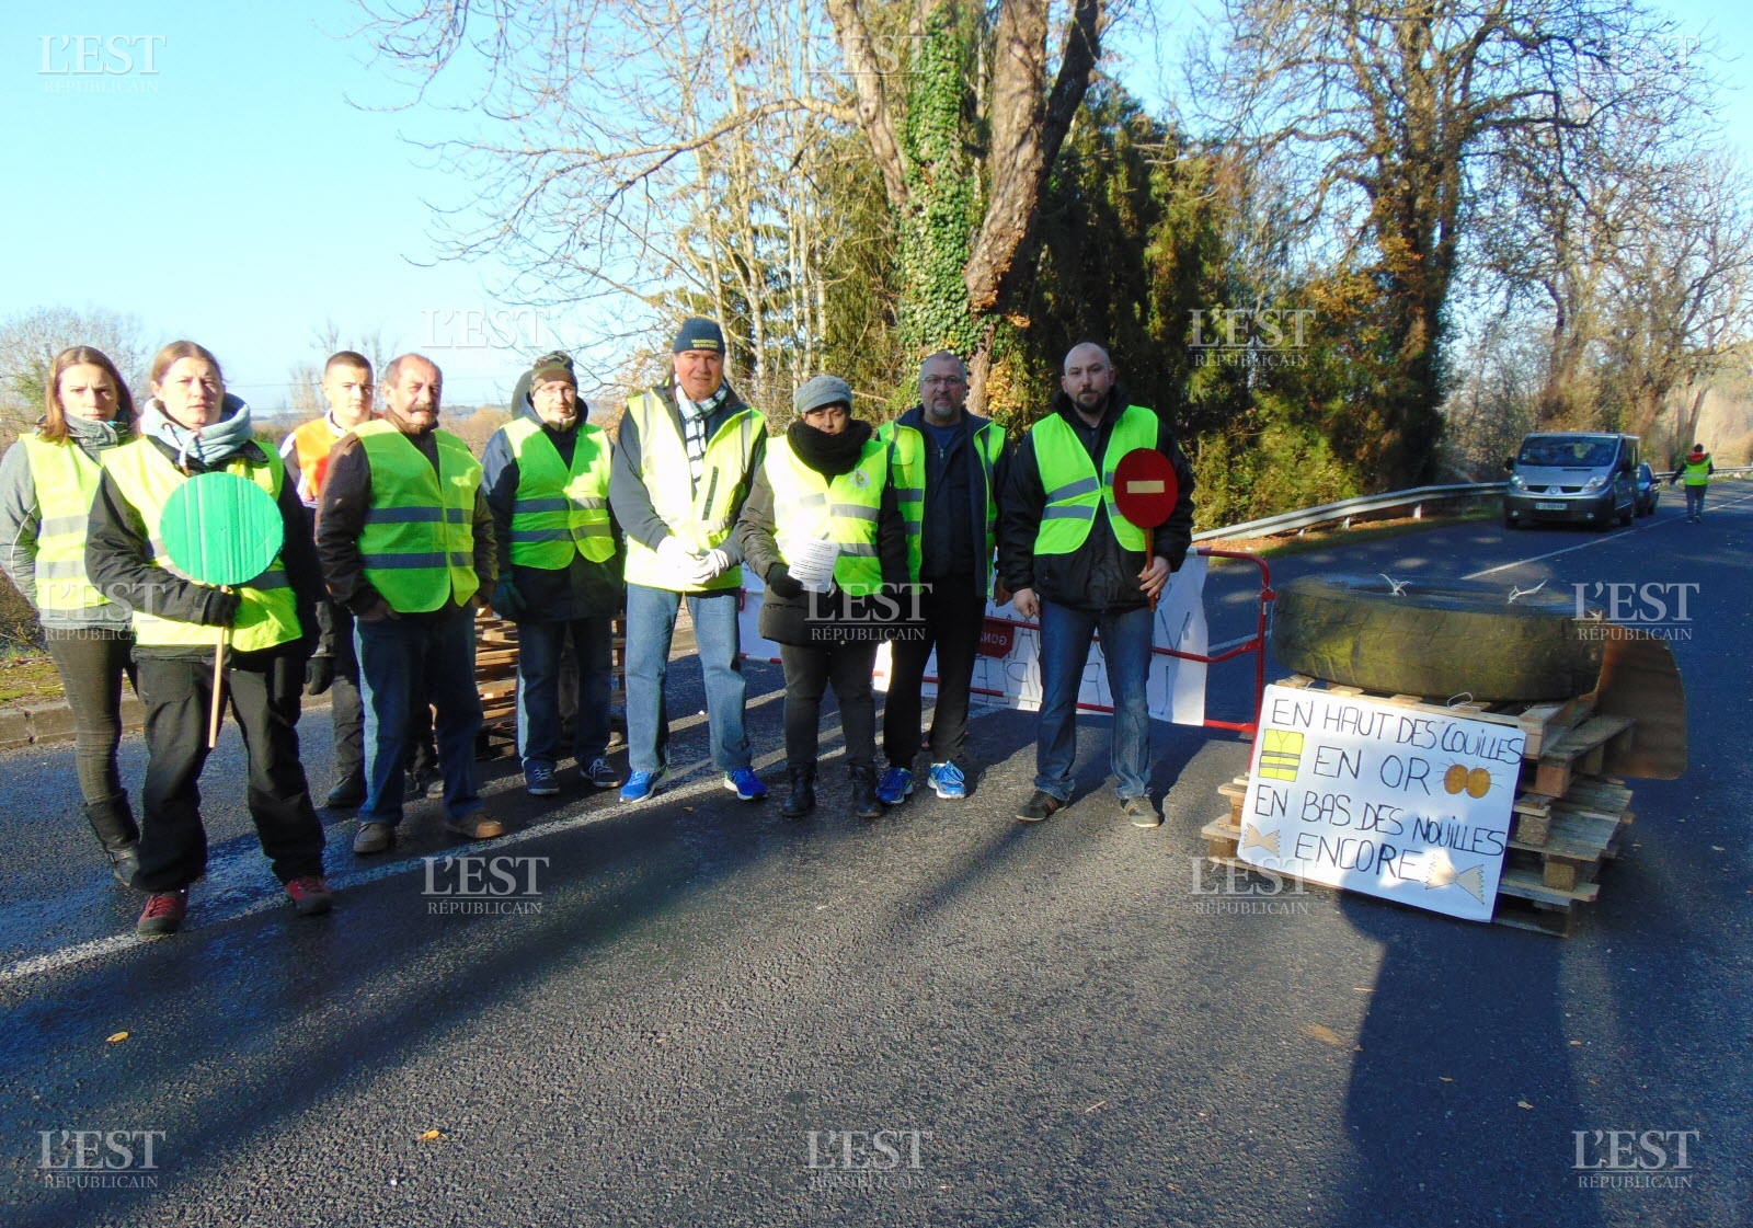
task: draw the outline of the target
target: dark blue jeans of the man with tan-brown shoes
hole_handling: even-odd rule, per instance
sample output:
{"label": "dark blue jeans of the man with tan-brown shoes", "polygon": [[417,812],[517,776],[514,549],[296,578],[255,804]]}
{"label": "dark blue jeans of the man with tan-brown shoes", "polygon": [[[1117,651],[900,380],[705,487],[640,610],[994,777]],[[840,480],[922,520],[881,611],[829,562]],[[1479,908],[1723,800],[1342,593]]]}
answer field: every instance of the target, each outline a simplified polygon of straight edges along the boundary
{"label": "dark blue jeans of the man with tan-brown shoes", "polygon": [[480,790],[475,787],[475,734],[480,732],[475,620],[466,613],[438,624],[358,618],[352,634],[365,699],[366,797],[359,822],[401,822],[403,762],[415,697],[438,709],[433,730],[438,736],[438,771],[444,774],[444,816],[456,822],[480,811]]}

